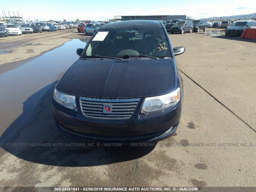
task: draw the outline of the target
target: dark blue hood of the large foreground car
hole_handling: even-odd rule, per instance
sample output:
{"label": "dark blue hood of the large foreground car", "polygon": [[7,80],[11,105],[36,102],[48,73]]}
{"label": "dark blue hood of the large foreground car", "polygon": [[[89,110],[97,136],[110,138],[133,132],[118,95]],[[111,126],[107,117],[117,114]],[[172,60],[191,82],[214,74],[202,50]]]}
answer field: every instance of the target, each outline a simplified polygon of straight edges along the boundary
{"label": "dark blue hood of the large foreground car", "polygon": [[56,89],[90,98],[140,98],[173,92],[175,81],[173,59],[78,60]]}

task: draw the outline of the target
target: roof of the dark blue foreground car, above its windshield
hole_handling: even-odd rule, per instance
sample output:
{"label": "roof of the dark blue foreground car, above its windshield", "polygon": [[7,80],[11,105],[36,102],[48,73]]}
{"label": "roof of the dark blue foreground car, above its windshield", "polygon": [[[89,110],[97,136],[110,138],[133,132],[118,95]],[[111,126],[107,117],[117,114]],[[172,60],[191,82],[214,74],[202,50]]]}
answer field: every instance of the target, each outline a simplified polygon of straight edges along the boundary
{"label": "roof of the dark blue foreground car, above its windshield", "polygon": [[160,21],[152,20],[128,20],[122,22],[112,22],[103,25],[102,28],[127,27],[127,26],[158,26],[162,27]]}

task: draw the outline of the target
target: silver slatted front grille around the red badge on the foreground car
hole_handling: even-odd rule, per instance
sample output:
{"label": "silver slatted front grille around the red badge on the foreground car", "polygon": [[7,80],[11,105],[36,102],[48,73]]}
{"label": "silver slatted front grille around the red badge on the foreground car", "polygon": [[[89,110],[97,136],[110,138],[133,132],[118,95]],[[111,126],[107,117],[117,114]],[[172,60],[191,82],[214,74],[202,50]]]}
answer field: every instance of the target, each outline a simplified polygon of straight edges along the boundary
{"label": "silver slatted front grille around the red badge on the foreground car", "polygon": [[[80,97],[80,107],[87,118],[122,120],[129,119],[134,114],[140,98],[136,99],[94,99]],[[103,112],[105,106],[111,106],[111,113]]]}

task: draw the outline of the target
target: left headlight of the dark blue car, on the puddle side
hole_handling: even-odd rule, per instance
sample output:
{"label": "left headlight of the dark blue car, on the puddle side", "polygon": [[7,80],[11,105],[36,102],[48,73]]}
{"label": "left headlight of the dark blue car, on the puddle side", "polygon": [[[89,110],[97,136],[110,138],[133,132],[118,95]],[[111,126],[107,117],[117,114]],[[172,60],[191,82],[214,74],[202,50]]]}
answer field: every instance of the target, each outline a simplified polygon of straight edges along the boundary
{"label": "left headlight of the dark blue car, on the puddle side", "polygon": [[66,108],[73,110],[76,109],[76,96],[68,95],[54,89],[53,98],[57,103]]}

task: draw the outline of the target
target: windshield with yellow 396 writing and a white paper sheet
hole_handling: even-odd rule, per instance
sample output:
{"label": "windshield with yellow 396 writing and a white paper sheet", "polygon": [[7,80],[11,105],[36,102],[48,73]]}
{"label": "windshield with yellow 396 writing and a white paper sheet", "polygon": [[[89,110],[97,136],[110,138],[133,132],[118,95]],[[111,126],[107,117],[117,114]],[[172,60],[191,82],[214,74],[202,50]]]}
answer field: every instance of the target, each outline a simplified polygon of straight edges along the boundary
{"label": "windshield with yellow 396 writing and a white paper sheet", "polygon": [[171,58],[164,30],[152,26],[100,28],[82,57],[144,55]]}

